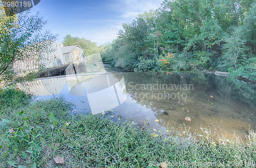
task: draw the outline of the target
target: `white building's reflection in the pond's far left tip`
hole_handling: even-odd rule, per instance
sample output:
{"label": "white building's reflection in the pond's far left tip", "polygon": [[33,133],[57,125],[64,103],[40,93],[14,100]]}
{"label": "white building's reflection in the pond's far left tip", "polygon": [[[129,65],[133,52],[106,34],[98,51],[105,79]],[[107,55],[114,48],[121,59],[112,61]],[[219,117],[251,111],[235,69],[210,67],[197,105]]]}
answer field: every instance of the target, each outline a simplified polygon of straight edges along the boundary
{"label": "white building's reflection in the pond's far left tip", "polygon": [[65,78],[46,78],[25,83],[17,83],[17,86],[20,90],[27,93],[37,96],[46,96],[58,94],[62,90],[65,82]]}

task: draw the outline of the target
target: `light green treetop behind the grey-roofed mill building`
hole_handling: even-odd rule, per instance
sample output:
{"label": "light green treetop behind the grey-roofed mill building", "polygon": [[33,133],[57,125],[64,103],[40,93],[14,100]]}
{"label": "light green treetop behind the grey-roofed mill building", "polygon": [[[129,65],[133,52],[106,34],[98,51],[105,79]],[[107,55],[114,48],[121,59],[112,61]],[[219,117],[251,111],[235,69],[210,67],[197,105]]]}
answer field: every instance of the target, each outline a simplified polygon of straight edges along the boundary
{"label": "light green treetop behind the grey-roofed mill building", "polygon": [[91,55],[101,51],[101,48],[98,47],[95,42],[91,42],[90,40],[84,38],[80,39],[78,37],[71,37],[71,35],[67,35],[64,37],[63,45],[79,45],[83,48],[83,53],[85,55]]}

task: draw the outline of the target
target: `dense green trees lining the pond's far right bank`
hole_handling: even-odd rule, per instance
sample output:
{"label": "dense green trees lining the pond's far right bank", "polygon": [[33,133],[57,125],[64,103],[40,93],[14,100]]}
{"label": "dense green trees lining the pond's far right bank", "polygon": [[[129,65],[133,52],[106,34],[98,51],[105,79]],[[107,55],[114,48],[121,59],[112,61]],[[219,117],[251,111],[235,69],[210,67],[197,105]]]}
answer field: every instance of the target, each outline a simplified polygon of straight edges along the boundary
{"label": "dense green trees lining the pond's far right bank", "polygon": [[256,79],[256,3],[165,0],[123,24],[102,57],[130,71],[229,71]]}

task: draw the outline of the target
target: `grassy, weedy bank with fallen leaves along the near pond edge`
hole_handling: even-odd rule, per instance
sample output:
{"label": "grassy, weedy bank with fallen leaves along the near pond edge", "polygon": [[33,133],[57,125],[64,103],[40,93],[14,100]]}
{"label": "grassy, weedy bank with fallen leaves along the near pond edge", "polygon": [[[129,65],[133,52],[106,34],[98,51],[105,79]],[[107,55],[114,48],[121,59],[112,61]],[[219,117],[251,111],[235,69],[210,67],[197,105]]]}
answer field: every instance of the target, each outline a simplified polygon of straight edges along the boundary
{"label": "grassy, weedy bank with fallen leaves along the near pond edge", "polygon": [[[70,116],[63,98],[0,94],[0,167],[255,167],[256,134],[245,142],[154,136],[108,115]],[[181,140],[183,139],[183,140]]]}

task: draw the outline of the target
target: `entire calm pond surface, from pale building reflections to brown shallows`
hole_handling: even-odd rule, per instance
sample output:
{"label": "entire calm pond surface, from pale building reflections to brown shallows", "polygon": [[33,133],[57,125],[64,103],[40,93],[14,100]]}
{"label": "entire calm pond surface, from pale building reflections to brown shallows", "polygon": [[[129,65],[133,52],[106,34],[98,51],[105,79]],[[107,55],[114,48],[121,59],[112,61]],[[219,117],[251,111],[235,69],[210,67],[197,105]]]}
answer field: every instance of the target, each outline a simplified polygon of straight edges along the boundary
{"label": "entire calm pond surface, from pale building reflections to brown shallows", "polygon": [[141,123],[149,118],[149,127],[157,129],[185,123],[190,130],[200,133],[200,127],[206,127],[228,138],[255,129],[256,86],[250,83],[214,74],[106,70],[41,78],[19,88],[40,98],[62,95],[77,105],[73,113],[113,109],[114,120]]}

